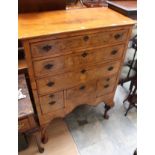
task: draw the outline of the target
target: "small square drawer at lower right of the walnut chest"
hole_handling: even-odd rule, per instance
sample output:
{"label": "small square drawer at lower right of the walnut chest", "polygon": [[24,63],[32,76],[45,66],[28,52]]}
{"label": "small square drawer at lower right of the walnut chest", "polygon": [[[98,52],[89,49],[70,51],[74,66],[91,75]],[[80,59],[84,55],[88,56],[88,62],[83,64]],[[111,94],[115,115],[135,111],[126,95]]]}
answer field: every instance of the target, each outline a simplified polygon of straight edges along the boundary
{"label": "small square drawer at lower right of the walnut chest", "polygon": [[96,96],[100,97],[114,90],[117,75],[108,76],[97,81]]}

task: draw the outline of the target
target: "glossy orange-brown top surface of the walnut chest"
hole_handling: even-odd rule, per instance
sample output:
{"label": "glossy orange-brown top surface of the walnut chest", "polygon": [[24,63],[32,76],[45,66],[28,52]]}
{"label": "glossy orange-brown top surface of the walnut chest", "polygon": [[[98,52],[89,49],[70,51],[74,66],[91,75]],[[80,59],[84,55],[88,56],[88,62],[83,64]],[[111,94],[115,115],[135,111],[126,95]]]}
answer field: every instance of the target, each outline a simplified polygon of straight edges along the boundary
{"label": "glossy orange-brown top surface of the walnut chest", "polygon": [[134,23],[134,20],[106,7],[19,14],[18,38],[29,39]]}

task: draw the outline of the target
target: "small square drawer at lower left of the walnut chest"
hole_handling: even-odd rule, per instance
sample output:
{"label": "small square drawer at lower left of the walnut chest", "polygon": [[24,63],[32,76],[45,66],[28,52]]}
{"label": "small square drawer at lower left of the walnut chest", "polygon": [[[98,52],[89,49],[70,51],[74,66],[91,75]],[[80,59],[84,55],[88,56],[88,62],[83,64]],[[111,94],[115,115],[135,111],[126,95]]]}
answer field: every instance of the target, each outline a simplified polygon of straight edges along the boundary
{"label": "small square drawer at lower left of the walnut chest", "polygon": [[63,91],[40,97],[40,106],[43,114],[64,108]]}

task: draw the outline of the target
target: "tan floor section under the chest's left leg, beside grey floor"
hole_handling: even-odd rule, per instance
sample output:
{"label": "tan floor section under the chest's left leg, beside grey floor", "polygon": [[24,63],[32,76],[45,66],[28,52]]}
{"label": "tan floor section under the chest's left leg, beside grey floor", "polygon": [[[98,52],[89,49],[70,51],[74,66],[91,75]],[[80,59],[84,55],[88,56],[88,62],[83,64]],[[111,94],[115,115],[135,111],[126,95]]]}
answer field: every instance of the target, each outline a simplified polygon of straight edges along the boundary
{"label": "tan floor section under the chest's left leg, beside grey floor", "polygon": [[39,153],[33,137],[30,137],[29,148],[19,155],[79,155],[74,140],[62,119],[56,119],[48,128],[49,141],[44,146],[44,153]]}

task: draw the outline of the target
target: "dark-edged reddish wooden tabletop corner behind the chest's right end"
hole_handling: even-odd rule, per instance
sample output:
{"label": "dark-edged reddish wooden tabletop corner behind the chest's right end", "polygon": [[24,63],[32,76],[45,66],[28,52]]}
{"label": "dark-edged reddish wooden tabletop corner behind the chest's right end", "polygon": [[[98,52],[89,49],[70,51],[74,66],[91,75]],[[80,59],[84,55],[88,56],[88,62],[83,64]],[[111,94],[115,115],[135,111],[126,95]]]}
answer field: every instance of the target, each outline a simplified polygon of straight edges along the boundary
{"label": "dark-edged reddish wooden tabletop corner behind the chest's right end", "polygon": [[125,0],[125,1],[107,1],[108,7],[128,16],[132,19],[137,19],[137,1]]}

